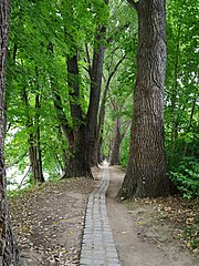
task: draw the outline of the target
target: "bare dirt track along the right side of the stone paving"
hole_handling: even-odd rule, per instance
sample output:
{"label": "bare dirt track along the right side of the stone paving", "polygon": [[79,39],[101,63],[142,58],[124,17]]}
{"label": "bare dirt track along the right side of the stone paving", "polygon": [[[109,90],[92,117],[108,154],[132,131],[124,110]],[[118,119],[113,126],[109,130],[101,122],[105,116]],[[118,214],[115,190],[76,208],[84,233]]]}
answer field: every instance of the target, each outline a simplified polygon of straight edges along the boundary
{"label": "bare dirt track along the right side of the stone paving", "polygon": [[172,238],[175,228],[163,222],[154,204],[115,201],[124,173],[111,167],[107,212],[122,266],[197,266],[196,255]]}

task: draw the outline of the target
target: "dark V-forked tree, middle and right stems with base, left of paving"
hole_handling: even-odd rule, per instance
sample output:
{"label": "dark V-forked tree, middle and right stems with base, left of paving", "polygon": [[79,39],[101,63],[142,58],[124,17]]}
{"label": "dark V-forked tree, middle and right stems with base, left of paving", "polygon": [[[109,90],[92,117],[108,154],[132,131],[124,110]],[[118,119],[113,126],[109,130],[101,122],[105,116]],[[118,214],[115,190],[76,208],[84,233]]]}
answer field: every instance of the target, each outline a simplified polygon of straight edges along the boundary
{"label": "dark V-forked tree, middle and right stems with base, left of paving", "polygon": [[[103,9],[107,9],[108,1],[103,1]],[[108,13],[107,13],[108,14]],[[105,16],[106,17],[106,16]],[[108,18],[108,16],[107,16]],[[107,20],[106,18],[106,20]],[[96,139],[97,139],[97,114],[101,96],[101,84],[103,74],[104,52],[106,48],[106,21],[97,22],[95,25],[93,59],[90,61],[91,90],[87,112],[81,106],[78,51],[73,35],[66,32],[72,43],[72,55],[67,55],[67,83],[70,94],[70,106],[72,127],[69,129],[69,165],[65,176],[92,176],[91,165],[97,163]]]}

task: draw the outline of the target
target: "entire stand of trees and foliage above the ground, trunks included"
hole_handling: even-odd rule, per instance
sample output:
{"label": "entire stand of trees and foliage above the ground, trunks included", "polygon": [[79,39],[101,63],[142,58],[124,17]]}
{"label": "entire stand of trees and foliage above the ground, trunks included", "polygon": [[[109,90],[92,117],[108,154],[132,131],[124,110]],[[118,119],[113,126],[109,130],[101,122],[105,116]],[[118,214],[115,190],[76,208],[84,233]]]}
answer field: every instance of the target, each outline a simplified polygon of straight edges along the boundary
{"label": "entire stand of trees and foliage above the ground, trunks included", "polygon": [[0,8],[0,264],[19,265],[4,139],[8,184],[18,188],[92,177],[106,157],[127,168],[123,198],[168,195],[169,178],[184,197],[199,195],[193,0],[15,0],[11,16],[10,1]]}

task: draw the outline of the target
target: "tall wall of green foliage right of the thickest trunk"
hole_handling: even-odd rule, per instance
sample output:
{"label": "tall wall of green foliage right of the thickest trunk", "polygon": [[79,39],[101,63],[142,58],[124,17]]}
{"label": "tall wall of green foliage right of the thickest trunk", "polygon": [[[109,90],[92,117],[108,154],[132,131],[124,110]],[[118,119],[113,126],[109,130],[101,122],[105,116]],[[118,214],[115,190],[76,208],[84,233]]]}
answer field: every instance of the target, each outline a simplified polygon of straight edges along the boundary
{"label": "tall wall of green foliage right of the thickest trunk", "polygon": [[191,0],[167,4],[166,151],[170,177],[187,198],[199,195],[197,13]]}

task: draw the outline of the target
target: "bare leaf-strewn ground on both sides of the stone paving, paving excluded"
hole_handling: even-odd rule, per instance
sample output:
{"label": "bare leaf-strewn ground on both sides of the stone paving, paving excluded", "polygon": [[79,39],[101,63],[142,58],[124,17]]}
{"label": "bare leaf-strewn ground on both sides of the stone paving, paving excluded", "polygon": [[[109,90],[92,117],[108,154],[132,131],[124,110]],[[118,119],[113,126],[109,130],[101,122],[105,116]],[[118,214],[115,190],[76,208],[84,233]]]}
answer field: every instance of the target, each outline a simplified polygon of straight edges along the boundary
{"label": "bare leaf-strewn ground on both sides of the stone paving, paving excluded", "polygon": [[[121,265],[199,265],[197,203],[179,197],[119,203],[115,197],[124,172],[109,171],[107,213]],[[102,170],[95,168],[94,176],[48,182],[10,198],[24,266],[78,265],[86,203]]]}

